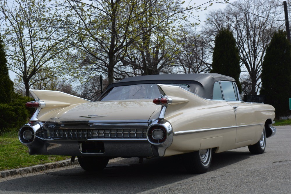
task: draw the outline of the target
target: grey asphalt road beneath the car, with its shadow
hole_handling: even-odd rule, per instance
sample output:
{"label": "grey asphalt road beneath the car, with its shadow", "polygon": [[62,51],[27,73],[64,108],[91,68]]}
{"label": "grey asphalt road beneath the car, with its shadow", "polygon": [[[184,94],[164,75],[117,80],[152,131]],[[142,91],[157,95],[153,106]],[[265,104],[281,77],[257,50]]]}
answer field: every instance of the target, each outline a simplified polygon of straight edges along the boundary
{"label": "grey asphalt road beneath the car, with its shadow", "polygon": [[0,178],[0,193],[291,193],[291,126],[276,128],[265,153],[214,154],[205,174],[188,174],[179,157],[117,159],[102,173],[69,166]]}

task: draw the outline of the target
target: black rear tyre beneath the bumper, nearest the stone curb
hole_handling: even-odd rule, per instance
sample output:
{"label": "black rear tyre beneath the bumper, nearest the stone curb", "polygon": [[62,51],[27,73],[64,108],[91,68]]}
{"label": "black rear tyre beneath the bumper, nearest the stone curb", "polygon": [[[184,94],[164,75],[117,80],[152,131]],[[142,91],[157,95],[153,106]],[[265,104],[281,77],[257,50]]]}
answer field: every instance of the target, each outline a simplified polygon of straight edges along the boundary
{"label": "black rear tyre beneath the bumper, nearest the stone curb", "polygon": [[109,159],[96,156],[78,156],[80,166],[86,171],[102,171]]}

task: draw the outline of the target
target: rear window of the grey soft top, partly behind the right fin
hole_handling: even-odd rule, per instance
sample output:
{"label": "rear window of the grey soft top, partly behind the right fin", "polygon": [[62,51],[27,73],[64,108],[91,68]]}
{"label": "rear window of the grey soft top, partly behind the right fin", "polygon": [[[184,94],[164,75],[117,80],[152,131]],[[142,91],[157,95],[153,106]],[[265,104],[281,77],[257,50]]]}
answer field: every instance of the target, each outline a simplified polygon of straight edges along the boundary
{"label": "rear window of the grey soft top, partly behind the right fin", "polygon": [[[189,91],[187,84],[165,84],[179,86]],[[137,84],[118,86],[112,88],[100,101],[129,100],[129,99],[154,99],[161,96],[157,84]]]}

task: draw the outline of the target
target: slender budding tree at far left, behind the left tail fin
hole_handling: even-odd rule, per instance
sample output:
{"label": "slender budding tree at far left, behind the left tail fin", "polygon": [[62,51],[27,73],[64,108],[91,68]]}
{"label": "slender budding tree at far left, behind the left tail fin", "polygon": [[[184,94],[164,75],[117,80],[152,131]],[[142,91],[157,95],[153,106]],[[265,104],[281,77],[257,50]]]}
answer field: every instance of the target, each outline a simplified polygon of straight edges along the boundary
{"label": "slender budding tree at far left, behind the left tail fin", "polygon": [[[45,0],[15,0],[12,4],[0,2],[5,25],[1,26],[7,51],[8,66],[24,83],[26,96],[29,88],[41,80],[58,76],[54,71],[61,65],[62,53],[68,48],[52,20],[51,9]],[[53,17],[53,16],[51,16]],[[62,39],[58,39],[61,36]],[[46,77],[36,75],[46,71]]]}

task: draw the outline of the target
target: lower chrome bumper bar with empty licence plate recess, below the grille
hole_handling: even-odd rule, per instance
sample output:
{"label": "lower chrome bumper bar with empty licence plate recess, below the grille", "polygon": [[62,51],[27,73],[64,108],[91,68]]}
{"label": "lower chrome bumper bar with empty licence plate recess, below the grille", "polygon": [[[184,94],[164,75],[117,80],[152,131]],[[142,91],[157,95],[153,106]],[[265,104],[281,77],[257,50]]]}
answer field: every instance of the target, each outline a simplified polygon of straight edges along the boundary
{"label": "lower chrome bumper bar with empty licence plate recess, below the grille", "polygon": [[108,156],[147,157],[159,156],[157,148],[147,140],[134,141],[82,141],[82,140],[42,140],[36,138],[26,145],[29,154],[67,156]]}

